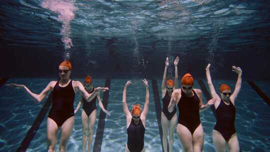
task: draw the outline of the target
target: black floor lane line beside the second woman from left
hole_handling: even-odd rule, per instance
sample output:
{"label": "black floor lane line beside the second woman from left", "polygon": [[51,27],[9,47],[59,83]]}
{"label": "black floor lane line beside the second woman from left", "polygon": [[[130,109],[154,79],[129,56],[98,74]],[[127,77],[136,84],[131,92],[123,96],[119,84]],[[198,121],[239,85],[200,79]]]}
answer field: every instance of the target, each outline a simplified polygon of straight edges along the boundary
{"label": "black floor lane line beside the second woman from left", "polygon": [[[108,88],[110,87],[110,78],[106,79],[104,87],[108,87]],[[102,104],[105,109],[107,109],[108,97],[109,97],[109,90],[103,93]],[[94,152],[101,151],[101,144],[102,144],[102,138],[103,138],[103,132],[104,132],[104,126],[105,126],[105,118],[106,118],[106,113],[100,110],[98,124],[96,128],[94,146],[93,146]]]}

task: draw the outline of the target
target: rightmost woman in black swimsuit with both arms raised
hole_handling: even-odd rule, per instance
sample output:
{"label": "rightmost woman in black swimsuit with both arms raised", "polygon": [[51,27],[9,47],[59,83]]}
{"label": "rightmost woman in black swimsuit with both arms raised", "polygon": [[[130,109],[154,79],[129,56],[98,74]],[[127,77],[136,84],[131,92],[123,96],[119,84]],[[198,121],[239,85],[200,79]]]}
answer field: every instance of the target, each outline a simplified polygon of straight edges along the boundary
{"label": "rightmost woman in black swimsuit with both arms raised", "polygon": [[210,65],[211,64],[208,64],[205,70],[211,96],[216,98],[216,102],[214,103],[216,112],[216,123],[214,125],[212,134],[215,151],[225,152],[226,144],[228,145],[228,150],[230,152],[239,151],[240,150],[239,142],[234,127],[235,121],[234,101],[241,88],[242,70],[240,67],[232,66],[232,71],[238,74],[238,78],[233,93],[231,93],[230,87],[227,84],[221,84],[219,87],[219,94],[220,94],[219,97],[219,95],[217,95],[217,93],[215,92],[214,86],[212,84],[209,70]]}

